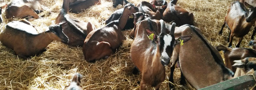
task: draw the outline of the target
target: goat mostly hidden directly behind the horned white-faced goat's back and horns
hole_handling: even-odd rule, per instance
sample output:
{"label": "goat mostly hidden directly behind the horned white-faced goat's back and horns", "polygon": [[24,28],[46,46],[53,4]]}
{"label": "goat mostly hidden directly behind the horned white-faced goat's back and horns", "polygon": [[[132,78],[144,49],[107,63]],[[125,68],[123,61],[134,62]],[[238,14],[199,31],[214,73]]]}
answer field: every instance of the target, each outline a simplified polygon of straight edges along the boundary
{"label": "goat mostly hidden directly behind the horned white-faced goat's back and horns", "polygon": [[[158,12],[158,11],[157,11]],[[132,31],[130,32],[129,34],[129,37],[131,37],[132,39],[134,39],[135,37],[135,30],[136,30],[136,25],[138,23],[140,23],[140,21],[146,19],[146,18],[149,18],[149,19],[152,19],[153,21],[155,21],[156,23],[158,23],[158,32],[160,33],[161,32],[161,24],[159,22],[158,19],[154,19],[154,17],[152,16],[149,16],[149,14],[145,14],[145,13],[142,13],[142,12],[136,12],[135,14],[133,13],[130,13],[129,14],[130,17],[133,17],[134,18],[134,28],[132,29]],[[165,27],[166,27],[166,33],[169,33],[170,31],[170,28],[171,28],[171,25],[168,24],[168,23],[165,23]]]}

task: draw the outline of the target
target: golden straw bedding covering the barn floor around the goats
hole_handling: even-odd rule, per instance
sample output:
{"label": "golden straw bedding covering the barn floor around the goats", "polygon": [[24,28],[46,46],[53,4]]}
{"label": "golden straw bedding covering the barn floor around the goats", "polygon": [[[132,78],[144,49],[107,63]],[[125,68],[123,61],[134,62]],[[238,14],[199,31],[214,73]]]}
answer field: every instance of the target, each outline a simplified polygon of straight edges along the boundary
{"label": "golden straw bedding covering the barn floor around the goats", "polygon": [[[137,5],[139,0],[129,0]],[[149,2],[149,0],[147,0]],[[195,23],[207,40],[213,45],[224,44],[227,46],[227,28],[224,28],[224,35],[217,35],[222,24],[228,6],[235,0],[178,0],[177,5],[193,12]],[[170,2],[170,1],[168,1]],[[10,0],[1,2],[0,5],[9,4]],[[35,19],[31,23],[38,28],[38,32],[45,31],[52,25],[59,14],[63,0],[43,0],[46,11],[39,15],[52,14],[44,18]],[[113,8],[111,1],[102,0],[101,5],[95,5],[86,9],[80,14],[72,14],[81,21],[93,23],[96,28],[104,26],[105,20],[117,9]],[[3,16],[5,12],[3,11]],[[19,20],[19,19],[13,19]],[[11,20],[4,18],[4,23],[0,23],[0,30]],[[61,90],[69,84],[75,73],[83,75],[82,86],[86,90],[139,90],[137,81],[141,80],[141,75],[133,75],[130,57],[130,46],[132,39],[127,35],[130,31],[124,31],[125,40],[123,45],[106,60],[99,60],[95,63],[88,63],[84,60],[81,47],[71,47],[61,42],[54,41],[47,51],[38,56],[33,56],[28,60],[21,59],[14,55],[14,51],[0,44],[0,90]],[[250,41],[251,32],[245,36],[241,46],[247,46]],[[233,47],[237,43],[237,38],[233,42]],[[223,53],[220,52],[223,57]],[[166,79],[162,83],[160,90],[168,90],[168,76],[170,65],[166,67]],[[175,82],[179,82],[180,71],[175,69]],[[150,88],[153,89],[153,88]],[[175,90],[189,89],[192,86],[175,85]]]}

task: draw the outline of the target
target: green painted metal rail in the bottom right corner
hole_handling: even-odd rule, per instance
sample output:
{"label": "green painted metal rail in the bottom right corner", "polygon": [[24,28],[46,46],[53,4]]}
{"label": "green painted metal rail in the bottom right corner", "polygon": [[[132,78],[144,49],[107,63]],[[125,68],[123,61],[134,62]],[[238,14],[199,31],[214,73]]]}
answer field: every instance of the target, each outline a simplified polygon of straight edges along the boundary
{"label": "green painted metal rail in the bottom right corner", "polygon": [[240,76],[199,90],[243,90],[256,84],[254,77],[256,78],[256,71],[253,75]]}

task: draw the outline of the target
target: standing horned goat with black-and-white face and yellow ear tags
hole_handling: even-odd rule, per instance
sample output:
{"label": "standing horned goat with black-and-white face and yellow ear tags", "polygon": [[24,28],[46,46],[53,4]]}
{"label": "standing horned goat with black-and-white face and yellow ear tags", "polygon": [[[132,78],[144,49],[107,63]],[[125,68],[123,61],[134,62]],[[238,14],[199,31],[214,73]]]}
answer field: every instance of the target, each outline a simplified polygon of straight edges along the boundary
{"label": "standing horned goat with black-and-white face and yellow ear tags", "polygon": [[[131,58],[134,65],[141,71],[140,90],[151,85],[156,90],[165,80],[165,67],[170,63],[173,47],[179,42],[174,39],[175,23],[170,34],[165,32],[165,23],[160,20],[161,33],[157,31],[157,23],[149,18],[141,21],[136,28],[136,37],[131,46]],[[158,36],[159,35],[159,36]],[[184,42],[191,36],[180,37]],[[151,39],[151,40],[150,40]]]}

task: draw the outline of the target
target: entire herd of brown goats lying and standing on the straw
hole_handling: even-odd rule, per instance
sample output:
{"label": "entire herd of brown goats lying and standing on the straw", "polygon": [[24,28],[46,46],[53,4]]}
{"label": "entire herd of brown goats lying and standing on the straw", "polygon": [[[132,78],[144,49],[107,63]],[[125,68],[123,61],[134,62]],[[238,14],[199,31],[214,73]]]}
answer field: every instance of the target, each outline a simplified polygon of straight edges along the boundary
{"label": "entire herd of brown goats lying and standing on the straw", "polygon": [[[116,52],[124,40],[122,30],[132,29],[129,37],[131,59],[134,74],[140,71],[142,79],[140,89],[146,85],[159,89],[165,80],[165,66],[172,57],[169,81],[174,83],[175,64],[181,69],[181,84],[185,79],[194,88],[204,88],[228,79],[244,75],[247,71],[256,70],[256,41],[249,42],[250,48],[239,48],[243,37],[249,33],[256,22],[256,0],[240,0],[231,4],[224,24],[229,30],[229,46],[233,37],[239,37],[236,48],[219,45],[213,47],[194,25],[193,13],[176,5],[177,0],[167,3],[165,0],[142,1],[137,6],[126,0],[113,0],[113,7],[122,4],[106,20],[106,26],[95,28],[91,22],[83,22],[68,12],[80,13],[92,5],[101,4],[100,0],[63,0],[62,9],[55,19],[55,25],[42,33],[29,21],[43,18],[38,16],[44,10],[41,0],[13,0],[1,7],[5,17],[25,18],[8,23],[0,33],[0,42],[14,50],[21,58],[29,58],[46,51],[52,41],[61,41],[70,46],[80,46],[88,62],[106,59]],[[247,9],[247,8],[249,9]],[[1,12],[0,12],[1,14]],[[2,22],[2,15],[0,17]],[[165,22],[173,22],[171,25]],[[175,27],[175,26],[179,27]],[[256,27],[256,26],[255,26]],[[256,28],[252,38],[256,33]],[[218,51],[224,51],[225,64]],[[202,53],[199,53],[202,52]],[[236,69],[236,67],[238,67]],[[234,75],[235,72],[235,75]],[[70,85],[64,90],[82,90],[81,74],[75,74]],[[78,85],[78,86],[77,86]],[[169,84],[170,88],[174,88]]]}

